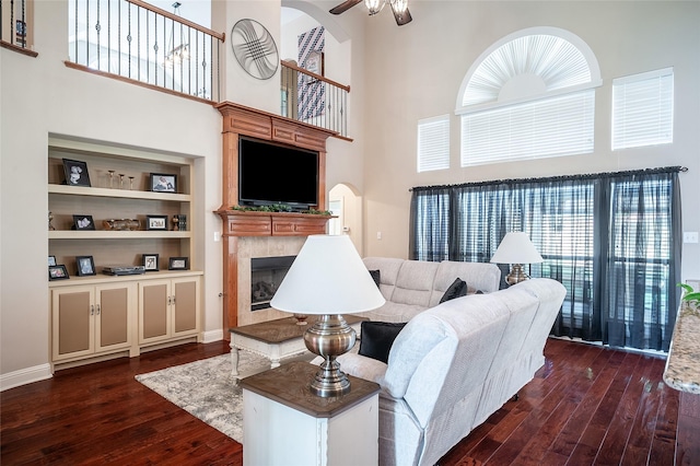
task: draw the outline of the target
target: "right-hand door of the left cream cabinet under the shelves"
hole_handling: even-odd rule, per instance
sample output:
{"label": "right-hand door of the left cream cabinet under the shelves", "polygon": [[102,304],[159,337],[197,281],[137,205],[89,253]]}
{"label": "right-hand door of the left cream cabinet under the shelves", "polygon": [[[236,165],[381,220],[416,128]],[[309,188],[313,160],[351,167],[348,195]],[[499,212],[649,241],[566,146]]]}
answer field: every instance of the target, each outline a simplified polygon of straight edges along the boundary
{"label": "right-hand door of the left cream cabinet under the shelves", "polygon": [[131,283],[96,288],[95,351],[128,348],[131,345],[133,290]]}

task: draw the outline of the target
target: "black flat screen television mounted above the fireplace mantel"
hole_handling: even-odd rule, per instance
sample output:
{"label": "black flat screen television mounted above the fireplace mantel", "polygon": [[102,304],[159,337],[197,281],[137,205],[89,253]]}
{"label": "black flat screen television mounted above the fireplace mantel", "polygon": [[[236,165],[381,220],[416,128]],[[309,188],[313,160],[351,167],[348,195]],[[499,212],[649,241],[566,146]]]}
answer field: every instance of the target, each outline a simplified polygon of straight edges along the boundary
{"label": "black flat screen television mounted above the fireplace mantel", "polygon": [[240,138],[238,203],[282,203],[294,210],[317,206],[318,152]]}

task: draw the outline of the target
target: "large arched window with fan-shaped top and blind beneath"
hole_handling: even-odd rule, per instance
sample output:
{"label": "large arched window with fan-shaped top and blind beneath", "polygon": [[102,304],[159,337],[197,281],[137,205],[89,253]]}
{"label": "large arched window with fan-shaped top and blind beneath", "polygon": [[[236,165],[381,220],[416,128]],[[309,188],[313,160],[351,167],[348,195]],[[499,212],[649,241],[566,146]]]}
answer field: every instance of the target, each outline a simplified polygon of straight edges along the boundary
{"label": "large arched window with fan-shaped top and blind beneath", "polygon": [[467,72],[462,166],[593,152],[600,70],[590,47],[556,27],[511,34]]}

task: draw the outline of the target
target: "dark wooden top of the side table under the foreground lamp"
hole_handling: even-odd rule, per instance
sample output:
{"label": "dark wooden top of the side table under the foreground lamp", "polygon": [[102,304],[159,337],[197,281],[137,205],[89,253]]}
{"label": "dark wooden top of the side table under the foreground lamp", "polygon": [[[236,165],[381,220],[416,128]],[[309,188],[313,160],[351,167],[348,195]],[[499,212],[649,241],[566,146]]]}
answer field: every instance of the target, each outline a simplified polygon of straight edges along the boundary
{"label": "dark wooden top of the side table under the foreground lamp", "polygon": [[332,418],[380,391],[374,382],[348,375],[348,394],[324,398],[311,392],[311,382],[317,371],[318,366],[308,362],[290,362],[243,378],[241,387],[315,418]]}

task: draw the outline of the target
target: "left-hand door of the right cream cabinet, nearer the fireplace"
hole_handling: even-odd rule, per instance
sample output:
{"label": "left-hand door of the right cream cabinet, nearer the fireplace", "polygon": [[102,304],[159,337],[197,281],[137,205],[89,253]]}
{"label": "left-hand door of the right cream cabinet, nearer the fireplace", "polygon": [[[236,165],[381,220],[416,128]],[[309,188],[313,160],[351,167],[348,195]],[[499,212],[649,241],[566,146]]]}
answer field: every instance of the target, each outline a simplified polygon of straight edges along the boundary
{"label": "left-hand door of the right cream cabinet, nearer the fireplace", "polygon": [[159,341],[170,337],[171,281],[153,280],[139,283],[139,342]]}

